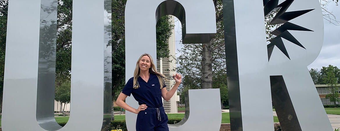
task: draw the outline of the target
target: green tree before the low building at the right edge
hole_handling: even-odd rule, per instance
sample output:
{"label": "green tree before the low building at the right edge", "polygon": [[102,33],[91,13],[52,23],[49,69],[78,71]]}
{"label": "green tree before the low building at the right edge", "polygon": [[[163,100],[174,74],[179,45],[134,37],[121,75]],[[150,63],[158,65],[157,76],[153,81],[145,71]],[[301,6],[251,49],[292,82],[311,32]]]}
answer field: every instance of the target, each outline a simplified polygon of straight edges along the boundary
{"label": "green tree before the low building at the right edge", "polygon": [[334,72],[332,71],[327,71],[326,76],[324,77],[324,83],[326,83],[328,89],[329,89],[329,94],[326,95],[326,98],[329,98],[330,102],[340,102],[338,99],[339,97],[339,87],[337,85],[337,79],[334,75]]}

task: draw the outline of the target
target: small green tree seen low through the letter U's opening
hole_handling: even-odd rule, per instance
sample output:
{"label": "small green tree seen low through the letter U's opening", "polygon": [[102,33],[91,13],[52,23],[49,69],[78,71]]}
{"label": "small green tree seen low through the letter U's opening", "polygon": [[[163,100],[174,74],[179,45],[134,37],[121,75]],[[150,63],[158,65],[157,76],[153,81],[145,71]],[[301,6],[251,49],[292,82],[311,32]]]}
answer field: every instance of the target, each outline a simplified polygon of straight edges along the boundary
{"label": "small green tree seen low through the letter U's opening", "polygon": [[65,110],[65,105],[71,102],[71,81],[66,81],[61,83],[60,86],[55,87],[54,100],[60,103],[64,103],[63,112]]}

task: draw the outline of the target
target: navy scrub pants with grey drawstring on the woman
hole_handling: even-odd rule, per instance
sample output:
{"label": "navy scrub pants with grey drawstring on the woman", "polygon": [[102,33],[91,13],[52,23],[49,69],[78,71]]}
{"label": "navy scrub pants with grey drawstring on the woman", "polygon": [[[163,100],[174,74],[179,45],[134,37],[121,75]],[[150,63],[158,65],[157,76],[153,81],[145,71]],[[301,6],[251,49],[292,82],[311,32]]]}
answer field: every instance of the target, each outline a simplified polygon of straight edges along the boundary
{"label": "navy scrub pants with grey drawstring on the woman", "polygon": [[147,108],[139,111],[136,131],[169,131],[168,116],[165,114],[164,108]]}

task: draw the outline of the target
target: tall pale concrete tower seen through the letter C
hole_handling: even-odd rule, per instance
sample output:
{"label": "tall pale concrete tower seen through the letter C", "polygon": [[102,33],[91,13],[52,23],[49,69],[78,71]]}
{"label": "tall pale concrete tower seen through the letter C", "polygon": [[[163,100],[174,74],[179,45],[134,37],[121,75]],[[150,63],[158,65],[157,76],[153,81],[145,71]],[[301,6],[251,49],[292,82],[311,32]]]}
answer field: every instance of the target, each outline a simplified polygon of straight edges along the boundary
{"label": "tall pale concrete tower seen through the letter C", "polygon": [[[171,23],[174,24],[174,16],[171,16],[170,18]],[[172,76],[173,74],[176,74],[176,71],[173,71],[173,69],[176,67],[175,63],[175,29],[172,30],[172,35],[169,38],[169,49],[170,49],[170,58],[163,58],[159,61],[157,60],[157,71],[162,73],[163,75],[169,75]],[[165,81],[165,84],[167,85],[167,91],[170,91],[170,89],[175,84],[175,80],[169,80]],[[163,98],[162,98],[163,99]],[[177,91],[175,94],[171,97],[169,101],[165,101],[163,99],[163,107],[166,113],[177,113],[177,101],[180,100],[180,96],[177,95]]]}

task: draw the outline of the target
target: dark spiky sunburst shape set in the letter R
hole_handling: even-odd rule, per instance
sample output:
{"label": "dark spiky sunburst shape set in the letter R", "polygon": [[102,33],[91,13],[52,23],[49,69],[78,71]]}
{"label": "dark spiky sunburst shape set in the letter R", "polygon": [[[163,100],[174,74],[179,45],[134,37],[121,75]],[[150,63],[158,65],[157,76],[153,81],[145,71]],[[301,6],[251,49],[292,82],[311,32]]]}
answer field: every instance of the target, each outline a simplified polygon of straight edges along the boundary
{"label": "dark spiky sunburst shape set in the letter R", "polygon": [[282,38],[306,49],[292,34],[289,33],[288,30],[312,31],[307,28],[290,23],[288,21],[296,17],[299,17],[303,14],[306,14],[314,9],[286,12],[294,0],[286,0],[282,2],[281,4],[278,4],[278,1],[279,0],[263,0],[265,17],[277,11],[276,15],[270,21],[269,25],[282,24],[281,26],[279,26],[278,28],[276,28],[274,31],[270,33],[270,34],[275,35],[276,37],[270,39],[269,40],[270,43],[267,45],[268,61],[270,60],[270,56],[272,55],[274,46],[276,46],[280,51],[282,51],[282,53],[284,53],[287,56],[287,58],[290,60],[289,54],[282,41]]}

